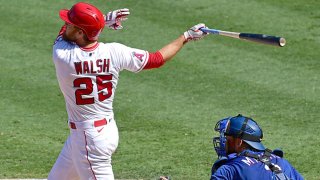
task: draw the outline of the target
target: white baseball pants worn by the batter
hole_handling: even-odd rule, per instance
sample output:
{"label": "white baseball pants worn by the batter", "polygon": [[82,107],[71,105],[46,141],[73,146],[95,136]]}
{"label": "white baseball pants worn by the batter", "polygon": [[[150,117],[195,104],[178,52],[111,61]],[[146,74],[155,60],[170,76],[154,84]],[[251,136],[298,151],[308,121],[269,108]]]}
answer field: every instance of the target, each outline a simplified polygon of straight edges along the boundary
{"label": "white baseball pants worn by the batter", "polygon": [[98,127],[94,121],[73,125],[48,180],[114,180],[111,156],[119,142],[115,120]]}

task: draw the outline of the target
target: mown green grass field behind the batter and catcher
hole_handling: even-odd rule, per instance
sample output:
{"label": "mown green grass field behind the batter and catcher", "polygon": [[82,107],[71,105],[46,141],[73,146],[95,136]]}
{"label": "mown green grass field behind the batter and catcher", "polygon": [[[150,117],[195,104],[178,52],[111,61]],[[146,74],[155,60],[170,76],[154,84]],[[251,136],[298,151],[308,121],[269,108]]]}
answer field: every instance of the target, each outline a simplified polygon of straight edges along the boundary
{"label": "mown green grass field behind the batter and catcher", "polygon": [[[45,178],[68,135],[51,60],[62,21],[76,1],[1,1],[0,178]],[[209,179],[217,120],[242,113],[262,126],[306,179],[320,179],[320,2],[317,0],[110,0],[128,7],[123,31],[104,42],[156,51],[196,23],[284,36],[283,48],[208,36],[161,69],[123,72],[114,109],[118,179]]]}

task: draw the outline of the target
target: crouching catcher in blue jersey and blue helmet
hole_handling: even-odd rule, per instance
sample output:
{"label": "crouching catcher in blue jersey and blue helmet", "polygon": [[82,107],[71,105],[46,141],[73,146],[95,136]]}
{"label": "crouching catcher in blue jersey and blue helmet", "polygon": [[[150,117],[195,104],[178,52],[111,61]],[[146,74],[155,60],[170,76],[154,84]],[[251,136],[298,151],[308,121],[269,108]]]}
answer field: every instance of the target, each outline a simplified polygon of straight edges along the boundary
{"label": "crouching catcher in blue jersey and blue helmet", "polygon": [[238,115],[217,122],[213,138],[218,160],[212,166],[211,180],[302,180],[303,177],[283,159],[282,151],[271,151],[261,143],[262,129],[251,118]]}

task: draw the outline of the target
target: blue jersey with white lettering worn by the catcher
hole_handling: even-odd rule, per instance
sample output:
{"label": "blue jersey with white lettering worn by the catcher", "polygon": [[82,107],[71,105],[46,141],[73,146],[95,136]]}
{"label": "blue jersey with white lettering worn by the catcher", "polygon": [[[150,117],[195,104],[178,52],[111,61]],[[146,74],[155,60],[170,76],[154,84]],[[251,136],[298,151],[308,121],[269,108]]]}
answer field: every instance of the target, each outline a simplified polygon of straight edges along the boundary
{"label": "blue jersey with white lettering worn by the catcher", "polygon": [[[263,152],[252,152],[252,154],[262,155]],[[273,180],[277,179],[275,174],[263,162],[240,155],[230,154],[226,160],[215,172],[212,172],[211,180]],[[290,165],[290,163],[274,154],[270,156],[270,162],[278,166],[281,171],[290,178],[290,180],[301,180],[303,177]],[[214,165],[215,166],[215,165]],[[213,168],[214,169],[214,168]]]}

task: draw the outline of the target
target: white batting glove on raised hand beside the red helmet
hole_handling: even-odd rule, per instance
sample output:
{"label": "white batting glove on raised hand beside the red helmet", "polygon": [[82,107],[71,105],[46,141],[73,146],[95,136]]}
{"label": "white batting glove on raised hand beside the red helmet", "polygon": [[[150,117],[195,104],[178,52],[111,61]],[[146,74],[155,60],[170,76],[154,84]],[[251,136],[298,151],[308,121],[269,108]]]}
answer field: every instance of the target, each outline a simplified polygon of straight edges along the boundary
{"label": "white batting glove on raised hand beside the red helmet", "polygon": [[113,30],[122,29],[121,22],[127,20],[127,16],[130,14],[129,9],[117,9],[110,11],[105,15],[106,26]]}

